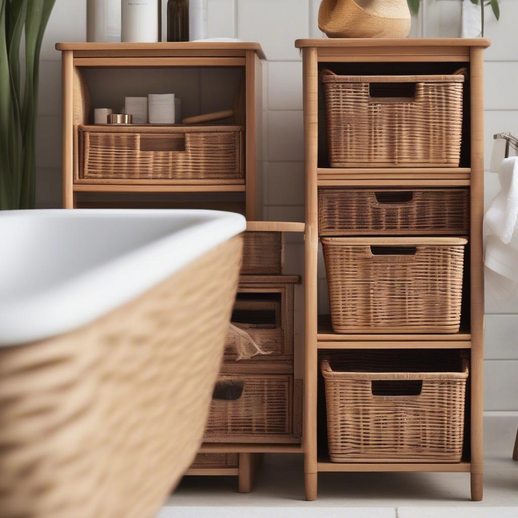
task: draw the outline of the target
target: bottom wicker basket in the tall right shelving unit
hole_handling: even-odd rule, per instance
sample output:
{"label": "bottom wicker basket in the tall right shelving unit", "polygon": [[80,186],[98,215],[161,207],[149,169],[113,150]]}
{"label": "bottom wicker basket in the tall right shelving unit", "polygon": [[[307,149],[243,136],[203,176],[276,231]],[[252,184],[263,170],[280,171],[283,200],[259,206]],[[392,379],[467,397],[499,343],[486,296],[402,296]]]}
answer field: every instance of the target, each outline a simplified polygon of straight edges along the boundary
{"label": "bottom wicker basket in the tall right shelving unit", "polygon": [[352,351],[323,359],[321,371],[331,461],[461,461],[463,354]]}

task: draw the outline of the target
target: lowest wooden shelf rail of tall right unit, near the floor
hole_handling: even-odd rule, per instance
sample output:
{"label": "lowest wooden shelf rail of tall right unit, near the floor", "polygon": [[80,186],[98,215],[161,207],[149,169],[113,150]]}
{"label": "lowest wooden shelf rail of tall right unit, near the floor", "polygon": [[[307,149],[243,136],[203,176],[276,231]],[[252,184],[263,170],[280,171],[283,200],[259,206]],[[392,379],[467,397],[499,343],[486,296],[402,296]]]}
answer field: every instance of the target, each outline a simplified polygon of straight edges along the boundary
{"label": "lowest wooden shelf rail of tall right unit, near the floor", "polygon": [[316,464],[318,471],[348,471],[348,472],[396,472],[396,471],[422,471],[439,473],[469,473],[471,464],[460,463],[338,463],[330,461],[319,461]]}

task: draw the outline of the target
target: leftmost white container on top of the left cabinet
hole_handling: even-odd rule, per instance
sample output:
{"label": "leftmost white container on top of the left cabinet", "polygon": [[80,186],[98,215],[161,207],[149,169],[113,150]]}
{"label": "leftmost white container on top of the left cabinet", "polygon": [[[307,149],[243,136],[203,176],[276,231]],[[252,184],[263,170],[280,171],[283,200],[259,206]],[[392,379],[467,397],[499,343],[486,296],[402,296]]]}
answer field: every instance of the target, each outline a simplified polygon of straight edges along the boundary
{"label": "leftmost white container on top of the left cabinet", "polygon": [[87,0],[87,41],[121,40],[119,0]]}

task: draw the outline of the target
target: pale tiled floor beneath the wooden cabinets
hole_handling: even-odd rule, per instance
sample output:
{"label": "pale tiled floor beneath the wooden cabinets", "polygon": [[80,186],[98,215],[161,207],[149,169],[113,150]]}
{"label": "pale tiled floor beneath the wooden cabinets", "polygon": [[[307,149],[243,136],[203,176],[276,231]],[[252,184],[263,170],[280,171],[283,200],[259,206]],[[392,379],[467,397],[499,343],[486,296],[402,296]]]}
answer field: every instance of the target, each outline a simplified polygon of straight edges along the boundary
{"label": "pale tiled floor beneath the wooden cabinets", "polygon": [[482,502],[470,501],[467,473],[321,473],[318,500],[305,502],[301,457],[270,455],[252,493],[237,493],[235,477],[186,477],[159,518],[518,518],[517,425],[518,413],[486,415]]}

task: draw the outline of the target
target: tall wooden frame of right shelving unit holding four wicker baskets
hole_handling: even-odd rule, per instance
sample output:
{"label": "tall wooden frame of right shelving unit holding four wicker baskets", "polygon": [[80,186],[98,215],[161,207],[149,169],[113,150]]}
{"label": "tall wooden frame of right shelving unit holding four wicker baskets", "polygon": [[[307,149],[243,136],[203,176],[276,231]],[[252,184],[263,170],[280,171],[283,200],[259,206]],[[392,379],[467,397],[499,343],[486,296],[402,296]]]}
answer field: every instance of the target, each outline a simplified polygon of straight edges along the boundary
{"label": "tall wooden frame of right shelving unit holding four wicker baskets", "polygon": [[[483,49],[487,39],[300,39],[295,46],[303,52],[304,133],[306,161],[306,376],[304,404],[304,442],[306,498],[315,500],[318,473],[322,471],[443,471],[471,474],[471,499],[483,494],[482,452],[482,369],[483,369]],[[463,146],[469,153],[460,168],[354,168],[333,169],[319,164],[319,71],[328,67],[375,64],[415,64],[424,70],[452,65],[468,68],[465,96],[469,111],[464,121]],[[354,64],[354,65],[352,65]],[[347,74],[347,72],[344,72]],[[439,72],[434,72],[439,73]],[[322,108],[322,106],[320,106]],[[469,122],[466,122],[469,121]],[[467,146],[466,146],[467,145]],[[321,143],[322,146],[322,143]],[[466,327],[455,335],[441,334],[335,334],[328,318],[318,314],[318,191],[343,186],[469,186],[470,233],[469,285],[465,285],[470,316]],[[468,252],[466,252],[468,253]],[[318,450],[318,352],[321,349],[466,349],[470,351],[470,426],[465,439],[470,453],[458,464],[437,463],[332,463]],[[468,399],[469,401],[469,399]],[[322,438],[321,438],[322,439]]]}

